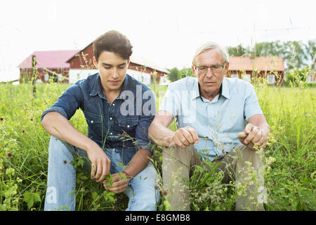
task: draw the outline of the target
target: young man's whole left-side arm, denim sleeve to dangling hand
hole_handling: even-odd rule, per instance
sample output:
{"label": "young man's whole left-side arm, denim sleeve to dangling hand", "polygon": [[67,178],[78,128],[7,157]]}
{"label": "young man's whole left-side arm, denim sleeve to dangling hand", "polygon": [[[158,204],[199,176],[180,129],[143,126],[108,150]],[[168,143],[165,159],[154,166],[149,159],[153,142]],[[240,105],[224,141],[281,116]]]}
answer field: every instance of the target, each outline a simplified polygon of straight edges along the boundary
{"label": "young man's whole left-side arm, denim sleeve to dangling hand", "polygon": [[[82,91],[78,84],[74,84],[67,89],[60,98],[45,110],[41,116],[41,125],[48,134],[51,134],[62,141],[70,143],[72,146],[86,150],[88,158],[91,160],[91,179],[100,182],[110,171],[110,160],[105,153],[101,153],[100,147],[81,134],[69,122],[77,109],[83,102]],[[96,175],[96,176],[95,176]]]}

